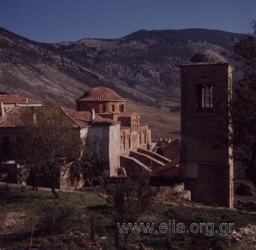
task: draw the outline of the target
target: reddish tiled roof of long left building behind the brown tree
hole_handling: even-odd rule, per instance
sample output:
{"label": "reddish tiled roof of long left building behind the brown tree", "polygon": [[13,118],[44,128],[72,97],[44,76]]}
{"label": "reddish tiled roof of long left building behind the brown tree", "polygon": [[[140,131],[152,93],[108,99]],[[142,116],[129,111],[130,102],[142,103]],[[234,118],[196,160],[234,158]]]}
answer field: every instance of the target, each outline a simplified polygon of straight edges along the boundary
{"label": "reddish tiled roof of long left building behind the brown tree", "polygon": [[[77,112],[75,110],[69,110],[67,108],[62,107],[47,107],[47,106],[39,106],[39,107],[20,107],[15,106],[10,108],[5,112],[5,115],[0,117],[0,128],[15,128],[15,127],[23,127],[28,125],[28,120],[24,120],[29,114],[32,114],[33,109],[40,109],[40,112],[44,112],[45,116],[53,114],[53,112],[57,112],[63,117],[71,120],[71,124],[73,128],[88,128],[94,125],[90,120],[90,112]],[[51,117],[51,116],[50,116]],[[95,124],[107,123],[107,124],[117,124],[113,120],[102,118],[101,116],[95,115]],[[30,124],[30,122],[29,122]],[[32,124],[32,120],[31,120]]]}

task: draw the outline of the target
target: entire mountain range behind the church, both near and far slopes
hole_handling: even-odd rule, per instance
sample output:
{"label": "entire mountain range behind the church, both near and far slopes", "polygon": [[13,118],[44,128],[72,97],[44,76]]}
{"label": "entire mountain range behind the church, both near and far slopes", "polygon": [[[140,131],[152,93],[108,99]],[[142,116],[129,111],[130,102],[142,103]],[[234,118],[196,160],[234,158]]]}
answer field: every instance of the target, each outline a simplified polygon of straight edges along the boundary
{"label": "entire mountain range behind the church, both near and far slopes", "polygon": [[0,91],[74,107],[86,89],[104,85],[127,98],[130,108],[147,110],[142,117],[154,124],[152,130],[170,134],[165,130],[170,115],[172,132],[179,130],[179,65],[205,49],[228,57],[241,36],[205,29],[139,30],[118,39],[45,44],[0,28]]}

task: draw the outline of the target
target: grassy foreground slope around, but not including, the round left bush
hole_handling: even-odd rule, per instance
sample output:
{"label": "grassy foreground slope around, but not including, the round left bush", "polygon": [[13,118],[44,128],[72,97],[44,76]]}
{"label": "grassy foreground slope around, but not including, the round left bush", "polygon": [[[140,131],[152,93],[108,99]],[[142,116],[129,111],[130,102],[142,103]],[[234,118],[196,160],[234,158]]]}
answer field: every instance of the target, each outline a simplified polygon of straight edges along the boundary
{"label": "grassy foreground slope around, but not including, the round left bush", "polygon": [[[90,218],[96,217],[96,241],[106,249],[115,249],[114,231],[113,231],[113,210],[106,205],[102,196],[97,193],[101,190],[86,190],[82,194],[61,192],[59,202],[66,205],[74,205],[82,214],[75,219],[69,230],[61,235],[38,235],[35,233],[33,239],[34,247],[53,247],[54,249],[83,249],[79,248],[73,241],[67,241],[67,235],[71,231],[82,231],[90,237]],[[28,247],[30,241],[32,218],[34,211],[42,203],[55,202],[51,192],[38,191],[32,192],[26,188],[11,188],[10,194],[0,198],[0,214],[4,218],[6,215],[11,218],[9,225],[3,222],[0,224],[0,248],[2,247]],[[45,211],[47,212],[47,211]],[[210,209],[210,208],[188,208],[186,206],[170,206],[162,203],[156,203],[154,208],[145,214],[141,221],[143,222],[167,222],[168,220],[177,222],[234,222],[235,228],[256,224],[255,214],[243,213],[231,210]],[[101,239],[106,237],[106,239]],[[141,234],[131,235],[129,243],[135,243],[141,239],[144,245],[152,249],[164,249],[166,237],[169,239],[172,249],[198,249],[202,244],[211,247],[226,245],[226,238],[215,235],[214,237],[205,237],[204,235],[187,234]],[[191,247],[194,246],[194,247]],[[207,248],[206,248],[207,249]]]}

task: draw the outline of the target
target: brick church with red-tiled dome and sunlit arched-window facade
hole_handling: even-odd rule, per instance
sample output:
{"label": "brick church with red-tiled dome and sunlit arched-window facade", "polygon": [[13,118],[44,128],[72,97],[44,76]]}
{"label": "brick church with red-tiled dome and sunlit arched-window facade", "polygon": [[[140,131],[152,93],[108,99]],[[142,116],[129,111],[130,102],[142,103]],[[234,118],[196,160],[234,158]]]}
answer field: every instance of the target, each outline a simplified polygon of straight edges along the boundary
{"label": "brick church with red-tiled dome and sunlit arched-window facade", "polygon": [[126,111],[125,99],[112,89],[94,87],[75,102],[78,112],[94,110],[102,118],[120,124],[120,155],[129,155],[130,151],[137,151],[138,148],[151,148],[151,131],[148,124],[140,122],[137,112]]}

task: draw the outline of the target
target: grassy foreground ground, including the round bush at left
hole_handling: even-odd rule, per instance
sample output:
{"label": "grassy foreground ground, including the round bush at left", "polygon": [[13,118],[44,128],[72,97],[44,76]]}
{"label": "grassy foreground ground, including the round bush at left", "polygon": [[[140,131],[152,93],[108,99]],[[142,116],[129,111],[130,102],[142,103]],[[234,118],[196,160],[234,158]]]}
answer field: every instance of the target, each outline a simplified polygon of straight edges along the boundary
{"label": "grassy foreground ground, including the round bush at left", "polygon": [[[34,192],[28,188],[9,188],[6,191],[3,186],[0,187],[0,248],[28,249],[33,228],[34,248],[89,249],[86,246],[91,244],[91,249],[115,249],[115,212],[106,203],[103,190],[88,188],[81,194],[59,194],[59,200],[55,200],[49,191]],[[53,220],[59,220],[55,223],[51,216]],[[92,220],[96,235],[94,248],[94,243],[90,241]],[[256,224],[256,215],[236,210],[182,206],[182,202],[180,206],[174,206],[158,201],[139,220],[158,224],[175,220],[185,225],[212,222],[215,226],[221,222],[232,222],[234,228],[240,228]],[[76,231],[84,233],[83,241],[69,237],[71,232]],[[205,236],[205,233],[132,233],[127,249],[139,249],[138,241],[148,249],[166,249],[167,245],[170,249],[233,249],[230,244],[234,247],[228,237],[217,233],[212,237]],[[120,235],[120,245],[122,243],[123,237]]]}

